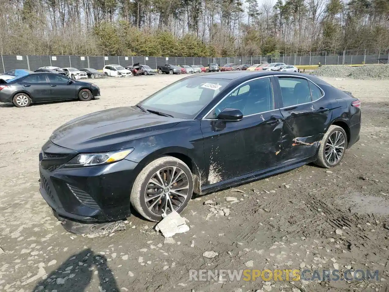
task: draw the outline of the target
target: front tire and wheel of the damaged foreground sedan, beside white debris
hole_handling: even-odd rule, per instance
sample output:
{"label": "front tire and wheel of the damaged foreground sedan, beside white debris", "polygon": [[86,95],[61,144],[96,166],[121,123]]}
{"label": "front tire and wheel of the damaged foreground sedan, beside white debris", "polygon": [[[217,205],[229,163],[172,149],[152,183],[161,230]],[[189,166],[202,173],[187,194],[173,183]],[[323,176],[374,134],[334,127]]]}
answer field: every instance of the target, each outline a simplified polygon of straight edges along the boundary
{"label": "front tire and wheel of the damaged foreground sedan, beside white debris", "polygon": [[[177,176],[177,174],[179,173],[178,172],[179,169],[180,169],[180,171],[182,171],[182,173]],[[179,191],[181,191],[182,194],[184,194],[184,195],[186,194],[186,197],[184,197],[184,195],[180,196],[180,195],[175,195],[174,193],[169,192],[170,188],[169,188],[168,184],[163,185],[163,187],[158,187],[156,184],[151,182],[151,179],[153,177],[157,178],[158,175],[160,178],[165,179],[164,174],[168,173],[169,170],[170,171],[175,170],[173,173],[173,179],[175,178],[175,176],[177,176],[176,179],[178,182],[178,183],[177,182],[173,183],[172,184],[173,188],[171,188],[171,189],[172,190],[174,189],[174,185],[180,186],[180,184],[184,184],[186,186],[186,184],[187,184],[187,188],[185,188],[183,190],[179,190]],[[157,173],[158,173],[158,175],[157,175]],[[170,180],[170,178],[168,178],[167,175],[166,175],[166,180]],[[159,183],[162,186],[160,179],[158,179],[158,181],[156,181],[156,180],[153,180],[153,181],[155,181],[156,183]],[[178,188],[180,188],[180,187],[178,187]],[[157,197],[154,201],[148,200],[146,202],[146,197],[150,198],[153,196],[150,194],[146,195],[147,189],[152,190],[152,192],[155,191],[156,195],[158,195],[159,197]],[[138,174],[137,178],[135,179],[132,191],[131,191],[130,202],[131,202],[131,205],[144,218],[146,218],[147,220],[150,220],[150,221],[158,222],[158,221],[162,220],[161,214],[163,213],[162,209],[165,208],[164,206],[166,206],[165,203],[168,206],[168,208],[166,208],[167,214],[169,214],[171,212],[172,208],[175,209],[175,211],[177,211],[177,213],[181,213],[181,211],[185,209],[186,205],[188,204],[189,200],[191,199],[192,194],[193,194],[193,176],[192,176],[192,172],[189,169],[189,167],[183,161],[181,161],[175,157],[164,156],[164,157],[157,158],[156,160],[147,164],[144,167],[144,169],[142,169],[142,171]],[[165,201],[166,197],[169,198],[168,202]],[[177,198],[179,198],[180,201],[178,201]],[[170,202],[170,204],[169,204],[169,202]],[[175,202],[175,204],[178,204],[178,206],[173,206],[173,204],[171,202]],[[151,204],[154,206],[150,206]],[[162,206],[162,209],[161,210],[153,209],[153,207],[158,208],[158,206]],[[149,209],[149,208],[151,208],[151,209]],[[151,210],[153,210],[154,212]]]}

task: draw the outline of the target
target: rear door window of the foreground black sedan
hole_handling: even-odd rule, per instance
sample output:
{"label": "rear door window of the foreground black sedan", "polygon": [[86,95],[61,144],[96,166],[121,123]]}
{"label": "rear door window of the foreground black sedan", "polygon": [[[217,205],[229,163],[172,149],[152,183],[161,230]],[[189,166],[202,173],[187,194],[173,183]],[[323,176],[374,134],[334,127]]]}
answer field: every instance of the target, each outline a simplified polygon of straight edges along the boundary
{"label": "rear door window of the foreground black sedan", "polygon": [[305,104],[312,101],[307,79],[279,77],[278,78],[284,107]]}

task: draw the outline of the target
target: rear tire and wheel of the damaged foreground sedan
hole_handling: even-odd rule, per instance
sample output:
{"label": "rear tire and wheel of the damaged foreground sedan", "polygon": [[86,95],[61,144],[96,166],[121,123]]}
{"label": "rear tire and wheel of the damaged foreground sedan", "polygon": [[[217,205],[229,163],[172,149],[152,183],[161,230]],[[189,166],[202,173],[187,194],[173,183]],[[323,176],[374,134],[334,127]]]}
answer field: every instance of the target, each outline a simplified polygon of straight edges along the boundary
{"label": "rear tire and wheel of the damaged foreground sedan", "polygon": [[[336,135],[338,138],[336,138]],[[331,141],[333,140],[337,141],[337,145],[339,147],[343,147],[343,150],[341,148],[332,148],[331,147]],[[335,141],[336,142],[336,141]],[[336,145],[335,144],[335,145]],[[331,150],[332,148],[332,150]],[[317,154],[317,160],[315,161],[315,164],[324,167],[324,168],[331,168],[338,165],[346,152],[347,149],[347,135],[346,132],[343,130],[342,127],[331,125],[329,126],[326,134],[324,134],[323,139],[320,141],[320,147],[319,147],[319,153]],[[326,151],[327,150],[327,151]],[[342,150],[342,153],[340,154],[339,151]],[[336,155],[334,155],[334,152],[336,152]],[[331,154],[333,153],[333,154]],[[339,156],[340,154],[340,156]],[[332,159],[334,158],[334,159]],[[338,158],[338,160],[336,160]]]}

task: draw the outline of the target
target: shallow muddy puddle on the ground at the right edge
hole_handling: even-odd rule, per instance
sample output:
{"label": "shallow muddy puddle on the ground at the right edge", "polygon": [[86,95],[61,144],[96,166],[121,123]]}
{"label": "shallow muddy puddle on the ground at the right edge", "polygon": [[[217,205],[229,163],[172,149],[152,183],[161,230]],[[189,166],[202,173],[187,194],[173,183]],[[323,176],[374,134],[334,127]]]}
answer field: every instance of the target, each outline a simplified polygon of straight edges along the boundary
{"label": "shallow muddy puddle on the ground at the right edge", "polygon": [[389,215],[389,200],[382,197],[362,195],[361,193],[349,193],[342,203],[349,204],[352,213],[377,213]]}

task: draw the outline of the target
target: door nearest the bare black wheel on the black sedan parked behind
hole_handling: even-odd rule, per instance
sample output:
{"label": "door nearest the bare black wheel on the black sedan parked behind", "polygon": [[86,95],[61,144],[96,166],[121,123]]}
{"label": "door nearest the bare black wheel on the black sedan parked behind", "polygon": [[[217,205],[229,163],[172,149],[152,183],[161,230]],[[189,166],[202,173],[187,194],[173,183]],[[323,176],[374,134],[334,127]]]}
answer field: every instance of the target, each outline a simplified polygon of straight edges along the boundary
{"label": "door nearest the bare black wheel on the black sedan parked behind", "polygon": [[[75,99],[77,89],[75,81],[59,74],[47,74],[49,79],[52,98],[56,100]],[[71,81],[72,83],[69,83]]]}

